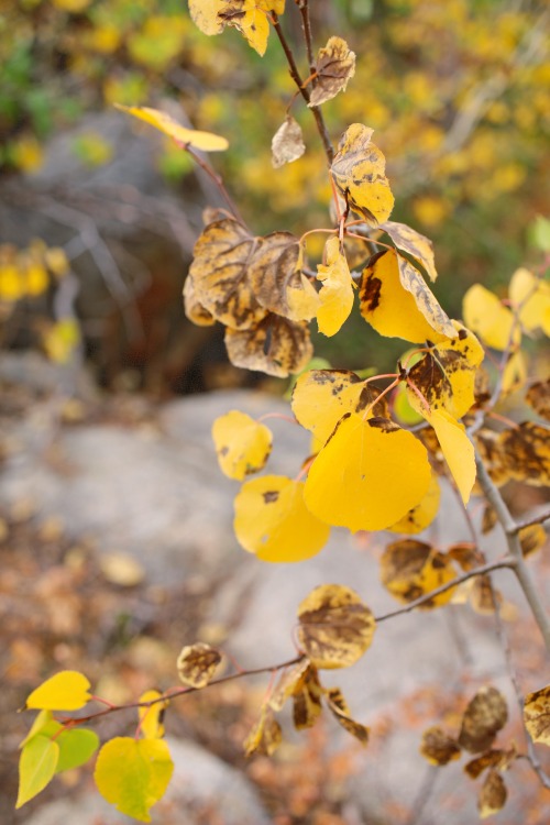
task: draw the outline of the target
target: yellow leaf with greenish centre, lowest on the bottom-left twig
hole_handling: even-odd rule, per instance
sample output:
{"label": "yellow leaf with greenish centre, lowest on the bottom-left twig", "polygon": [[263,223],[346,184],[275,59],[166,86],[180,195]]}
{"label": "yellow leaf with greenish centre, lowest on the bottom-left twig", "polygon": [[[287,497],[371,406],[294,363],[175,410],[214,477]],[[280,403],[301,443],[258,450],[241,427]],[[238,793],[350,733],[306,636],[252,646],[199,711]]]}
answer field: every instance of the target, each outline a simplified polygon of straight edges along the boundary
{"label": "yellow leaf with greenish centre, lowest on the bottom-left twig", "polygon": [[94,778],[100,794],[117,811],[151,822],[150,810],[164,796],[173,771],[164,739],[119,736],[99,751]]}

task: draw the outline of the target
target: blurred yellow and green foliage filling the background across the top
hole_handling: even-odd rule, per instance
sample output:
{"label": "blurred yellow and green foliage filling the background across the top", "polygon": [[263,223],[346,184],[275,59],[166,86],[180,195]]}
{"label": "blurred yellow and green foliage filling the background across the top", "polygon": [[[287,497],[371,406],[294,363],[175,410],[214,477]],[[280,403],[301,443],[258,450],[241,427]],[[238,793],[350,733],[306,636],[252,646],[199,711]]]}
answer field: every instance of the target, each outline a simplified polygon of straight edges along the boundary
{"label": "blurred yellow and green foliage filling the background across the top", "polygon": [[[316,0],[311,14],[316,47],[338,34],[358,55],[346,92],[323,106],[331,138],[336,144],[351,122],[375,129],[396,196],[392,219],[433,240],[440,300],[458,316],[470,284],[504,290],[529,263],[528,227],[549,212],[547,2]],[[292,0],[283,24],[301,58]],[[24,187],[47,164],[48,141],[90,112],[114,102],[169,106],[183,122],[229,139],[215,165],[257,233],[330,226],[326,160],[300,99],[292,112],[307,153],[272,167],[271,139],[294,95],[273,35],[261,58],[233,30],[201,34],[182,0],[0,0],[0,188]],[[168,141],[155,146],[166,193],[185,209],[196,189],[189,157]],[[121,151],[101,130],[70,143],[90,169]],[[6,234],[0,228],[3,258],[13,261]],[[308,242],[312,257],[323,241]],[[359,318],[338,339],[316,339],[338,366],[369,366],[386,345]]]}

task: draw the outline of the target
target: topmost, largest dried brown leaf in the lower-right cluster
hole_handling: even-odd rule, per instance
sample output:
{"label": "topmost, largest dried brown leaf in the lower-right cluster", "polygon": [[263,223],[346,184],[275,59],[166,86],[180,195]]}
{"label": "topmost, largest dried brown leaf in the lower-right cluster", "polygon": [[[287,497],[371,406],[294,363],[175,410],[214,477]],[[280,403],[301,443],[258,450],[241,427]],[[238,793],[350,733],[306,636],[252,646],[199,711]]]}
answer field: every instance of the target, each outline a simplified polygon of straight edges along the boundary
{"label": "topmost, largest dried brown leaf in the lower-right cluster", "polygon": [[508,707],[502,693],[496,688],[481,688],[462,717],[459,745],[471,754],[486,750],[507,719]]}

